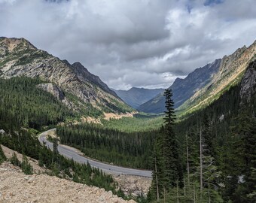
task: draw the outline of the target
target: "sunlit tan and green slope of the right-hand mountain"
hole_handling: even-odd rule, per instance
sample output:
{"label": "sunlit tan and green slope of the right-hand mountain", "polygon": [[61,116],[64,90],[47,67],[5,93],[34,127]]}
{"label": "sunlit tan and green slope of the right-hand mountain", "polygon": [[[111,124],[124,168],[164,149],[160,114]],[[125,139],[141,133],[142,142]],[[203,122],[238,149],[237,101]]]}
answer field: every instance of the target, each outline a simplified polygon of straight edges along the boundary
{"label": "sunlit tan and green slope of the right-hand mountain", "polygon": [[250,47],[244,46],[230,56],[224,56],[219,71],[212,80],[195,92],[177,111],[181,114],[191,113],[215,101],[230,86],[242,80],[245,69],[254,59],[256,59],[256,41]]}

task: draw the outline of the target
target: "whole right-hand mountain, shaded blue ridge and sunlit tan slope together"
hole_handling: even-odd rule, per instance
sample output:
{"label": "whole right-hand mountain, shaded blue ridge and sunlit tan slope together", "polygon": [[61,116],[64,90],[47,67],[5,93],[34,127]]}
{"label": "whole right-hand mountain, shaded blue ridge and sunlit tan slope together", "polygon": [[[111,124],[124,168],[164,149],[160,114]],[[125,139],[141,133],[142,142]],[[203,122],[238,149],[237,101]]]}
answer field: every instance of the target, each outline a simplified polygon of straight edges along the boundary
{"label": "whole right-hand mountain, shaded blue ridge and sunlit tan slope together", "polygon": [[[169,88],[173,92],[176,112],[180,115],[204,108],[215,101],[230,86],[238,83],[249,62],[256,57],[256,41],[250,47],[242,47],[230,56],[217,59],[212,64],[197,68],[184,79],[177,78]],[[139,111],[162,113],[163,94],[142,104]]]}

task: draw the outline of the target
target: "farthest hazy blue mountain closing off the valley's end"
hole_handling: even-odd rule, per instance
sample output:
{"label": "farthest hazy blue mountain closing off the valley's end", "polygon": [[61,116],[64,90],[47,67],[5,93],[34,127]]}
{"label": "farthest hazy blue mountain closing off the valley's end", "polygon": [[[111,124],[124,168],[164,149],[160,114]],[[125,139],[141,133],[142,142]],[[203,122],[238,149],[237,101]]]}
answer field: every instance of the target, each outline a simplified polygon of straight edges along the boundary
{"label": "farthest hazy blue mountain closing off the valley's end", "polygon": [[114,90],[127,105],[130,105],[133,108],[138,108],[140,105],[148,102],[148,100],[154,98],[163,91],[164,89],[145,89],[137,87],[132,87],[129,90]]}

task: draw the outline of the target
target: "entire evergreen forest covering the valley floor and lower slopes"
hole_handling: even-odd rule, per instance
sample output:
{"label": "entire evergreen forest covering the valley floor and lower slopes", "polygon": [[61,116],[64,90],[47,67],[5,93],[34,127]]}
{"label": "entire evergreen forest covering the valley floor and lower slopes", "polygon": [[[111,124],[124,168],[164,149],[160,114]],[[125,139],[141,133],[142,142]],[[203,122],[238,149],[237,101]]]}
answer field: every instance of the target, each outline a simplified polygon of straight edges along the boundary
{"label": "entire evergreen forest covering the valley floor and lower slopes", "polygon": [[[23,153],[20,165],[29,174],[26,156],[38,159],[50,174],[112,190],[108,174],[80,165],[41,146],[36,134],[75,113],[53,95],[38,89],[40,79],[0,79],[0,144]],[[256,87],[255,87],[256,88]],[[139,202],[256,202],[256,95],[241,100],[241,83],[231,86],[208,107],[175,117],[172,90],[166,89],[166,111],[160,117],[102,121],[103,125],[58,125],[61,144],[102,162],[152,172],[148,196]],[[0,163],[6,160],[0,147]],[[92,175],[93,174],[93,175]]]}

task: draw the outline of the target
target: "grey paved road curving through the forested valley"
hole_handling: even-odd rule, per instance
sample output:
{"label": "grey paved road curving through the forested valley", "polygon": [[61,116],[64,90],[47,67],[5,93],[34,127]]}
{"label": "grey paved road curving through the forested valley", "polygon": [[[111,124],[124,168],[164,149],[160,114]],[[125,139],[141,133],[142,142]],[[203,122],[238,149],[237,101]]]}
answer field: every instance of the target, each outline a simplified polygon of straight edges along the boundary
{"label": "grey paved road curving through the forested valley", "polygon": [[[46,136],[49,132],[53,132],[53,131],[56,131],[56,129],[50,129],[38,135],[38,140],[41,142],[41,144],[45,143],[46,146],[50,148],[50,150],[53,150],[53,143],[51,143],[50,141],[47,141]],[[87,157],[82,156],[79,150],[63,144],[58,145],[58,151],[61,155],[66,156],[66,158],[68,159],[73,159],[75,162],[80,162],[80,163],[89,162],[90,165],[93,166],[94,168],[99,168],[102,171],[105,171],[106,173],[129,174],[129,175],[136,175],[136,176],[142,176],[142,177],[152,177],[151,171],[139,170],[139,169],[133,169],[133,168],[124,168],[116,165],[108,165],[106,163],[95,161],[93,159],[88,159]]]}

